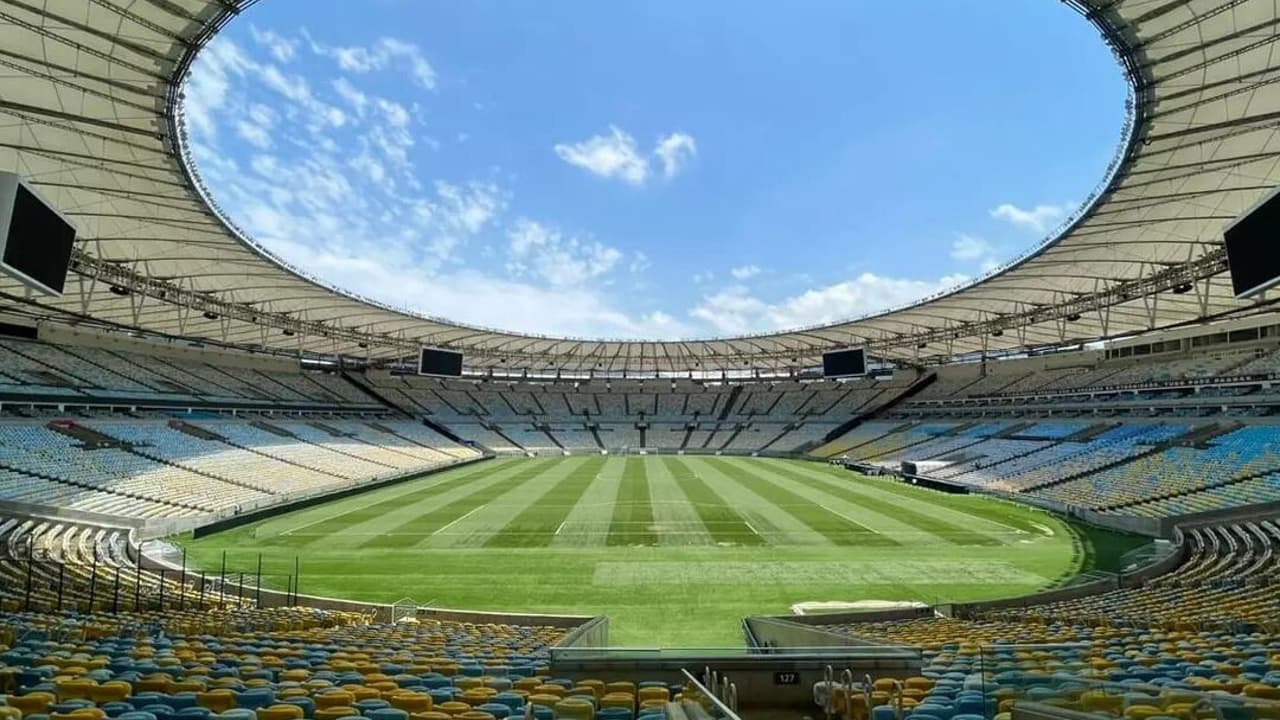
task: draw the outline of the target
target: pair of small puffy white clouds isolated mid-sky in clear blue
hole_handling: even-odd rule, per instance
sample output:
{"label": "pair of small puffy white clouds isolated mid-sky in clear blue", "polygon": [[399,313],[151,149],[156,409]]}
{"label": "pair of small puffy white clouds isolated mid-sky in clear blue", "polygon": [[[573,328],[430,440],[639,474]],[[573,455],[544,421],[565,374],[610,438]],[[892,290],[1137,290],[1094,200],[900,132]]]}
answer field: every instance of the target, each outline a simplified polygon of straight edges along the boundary
{"label": "pair of small puffy white clouds isolated mid-sky in clear blue", "polygon": [[[640,152],[636,138],[627,131],[609,126],[609,135],[594,135],[579,142],[558,142],[552,150],[570,165],[602,178],[621,179],[643,186],[649,179],[649,158]],[[653,156],[662,163],[663,176],[673,178],[698,154],[692,136],[673,132],[658,140]]]}

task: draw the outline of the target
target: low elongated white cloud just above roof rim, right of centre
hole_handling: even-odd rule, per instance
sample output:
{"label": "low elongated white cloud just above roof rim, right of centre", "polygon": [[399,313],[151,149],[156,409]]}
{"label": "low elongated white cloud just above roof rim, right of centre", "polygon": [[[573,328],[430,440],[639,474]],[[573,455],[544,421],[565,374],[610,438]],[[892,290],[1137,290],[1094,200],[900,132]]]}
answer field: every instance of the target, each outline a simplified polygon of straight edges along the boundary
{"label": "low elongated white cloud just above roof rim, right of centre", "polygon": [[968,279],[959,274],[916,281],[863,273],[851,281],[808,290],[777,302],[760,300],[746,287],[732,286],[703,297],[690,315],[721,334],[788,329],[884,310]]}

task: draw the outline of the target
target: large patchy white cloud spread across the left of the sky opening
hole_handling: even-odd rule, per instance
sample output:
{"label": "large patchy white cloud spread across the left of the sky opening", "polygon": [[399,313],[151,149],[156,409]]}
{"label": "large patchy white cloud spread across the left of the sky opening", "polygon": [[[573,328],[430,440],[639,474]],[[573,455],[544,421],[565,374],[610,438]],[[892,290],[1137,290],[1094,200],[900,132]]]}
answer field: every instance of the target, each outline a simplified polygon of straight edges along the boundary
{"label": "large patchy white cloud spread across the left of the sky opening", "polygon": [[[591,337],[701,332],[613,287],[621,272],[648,268],[644,252],[509,220],[498,172],[425,176],[411,96],[379,97],[330,64],[328,77],[303,79],[273,58],[215,38],[187,87],[204,179],[270,252],[351,292],[463,323]],[[504,275],[506,261],[518,274]]]}

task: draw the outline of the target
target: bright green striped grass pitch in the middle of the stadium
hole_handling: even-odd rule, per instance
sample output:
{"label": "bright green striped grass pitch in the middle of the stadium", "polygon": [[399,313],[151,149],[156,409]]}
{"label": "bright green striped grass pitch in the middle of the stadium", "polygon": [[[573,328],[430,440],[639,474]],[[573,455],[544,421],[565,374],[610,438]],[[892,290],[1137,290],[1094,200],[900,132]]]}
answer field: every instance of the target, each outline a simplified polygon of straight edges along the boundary
{"label": "bright green striped grass pitch in the middle of the stadium", "polygon": [[1007,502],[707,456],[493,460],[183,543],[214,571],[262,552],[279,587],[298,556],[303,593],[604,614],[648,647],[737,646],[740,618],[797,602],[1023,594],[1100,553]]}

